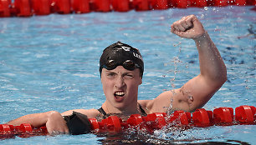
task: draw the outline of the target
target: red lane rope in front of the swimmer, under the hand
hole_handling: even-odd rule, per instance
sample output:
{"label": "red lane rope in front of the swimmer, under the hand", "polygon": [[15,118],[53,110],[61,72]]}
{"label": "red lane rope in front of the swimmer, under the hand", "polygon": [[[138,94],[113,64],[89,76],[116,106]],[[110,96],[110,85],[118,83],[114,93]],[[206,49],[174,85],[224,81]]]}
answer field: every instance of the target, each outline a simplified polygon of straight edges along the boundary
{"label": "red lane rope in front of the swimmer, under the hand", "polygon": [[[243,105],[235,108],[233,115],[232,107],[218,107],[212,111],[199,108],[195,112],[175,111],[171,115],[165,112],[155,112],[141,117],[140,114],[132,114],[127,121],[120,117],[110,116],[101,122],[96,118],[90,118],[91,133],[120,133],[127,129],[142,130],[146,133],[154,133],[155,130],[165,128],[206,128],[210,126],[231,125],[255,125],[256,107]],[[28,138],[33,136],[48,135],[47,128],[33,128],[28,123],[13,126],[0,124],[0,139]]]}

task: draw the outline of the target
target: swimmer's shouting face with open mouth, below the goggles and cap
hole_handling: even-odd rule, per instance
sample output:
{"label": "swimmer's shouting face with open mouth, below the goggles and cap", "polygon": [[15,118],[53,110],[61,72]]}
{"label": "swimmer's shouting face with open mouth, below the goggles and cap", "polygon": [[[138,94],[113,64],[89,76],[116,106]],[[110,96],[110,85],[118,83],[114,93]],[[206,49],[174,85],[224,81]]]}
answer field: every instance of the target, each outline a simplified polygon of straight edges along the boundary
{"label": "swimmer's shouting face with open mouth, below the goggles and cap", "polygon": [[109,107],[125,109],[137,103],[138,87],[142,83],[140,69],[129,71],[122,66],[102,69],[101,82]]}

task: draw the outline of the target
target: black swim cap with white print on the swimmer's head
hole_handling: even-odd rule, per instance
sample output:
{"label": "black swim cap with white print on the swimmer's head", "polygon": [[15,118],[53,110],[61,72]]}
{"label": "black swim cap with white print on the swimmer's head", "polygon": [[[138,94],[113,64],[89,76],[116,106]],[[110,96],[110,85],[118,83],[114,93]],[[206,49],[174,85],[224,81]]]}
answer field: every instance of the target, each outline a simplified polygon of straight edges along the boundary
{"label": "black swim cap with white print on the swimmer's head", "polygon": [[115,42],[106,47],[100,57],[100,76],[102,68],[108,70],[123,66],[127,70],[139,68],[141,77],[144,71],[144,62],[138,49],[122,42]]}

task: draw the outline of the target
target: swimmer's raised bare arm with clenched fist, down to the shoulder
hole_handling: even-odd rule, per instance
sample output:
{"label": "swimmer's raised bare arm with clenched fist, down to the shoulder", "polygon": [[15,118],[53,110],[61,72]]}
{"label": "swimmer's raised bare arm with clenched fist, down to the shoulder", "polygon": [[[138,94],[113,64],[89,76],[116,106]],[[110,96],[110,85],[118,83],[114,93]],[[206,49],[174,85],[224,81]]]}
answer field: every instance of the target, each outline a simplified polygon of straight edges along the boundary
{"label": "swimmer's raised bare arm with clenched fist, down to the shoulder", "polygon": [[[181,88],[163,92],[149,104],[151,112],[166,112],[164,107],[192,112],[202,107],[227,80],[226,66],[217,47],[194,15],[182,18],[172,24],[171,32],[179,37],[191,38],[196,42],[199,54],[200,74]],[[160,107],[160,109],[159,109]]]}

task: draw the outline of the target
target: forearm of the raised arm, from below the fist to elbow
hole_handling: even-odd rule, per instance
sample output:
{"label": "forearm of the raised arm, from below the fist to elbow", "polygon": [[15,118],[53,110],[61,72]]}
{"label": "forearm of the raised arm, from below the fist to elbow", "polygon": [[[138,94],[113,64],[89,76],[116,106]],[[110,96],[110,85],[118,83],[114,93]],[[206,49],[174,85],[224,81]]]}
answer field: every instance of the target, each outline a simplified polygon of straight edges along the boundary
{"label": "forearm of the raised arm, from below the fist to elbow", "polygon": [[227,70],[217,47],[207,32],[194,41],[199,53],[200,75],[205,77],[207,81],[213,82],[213,85],[222,85],[227,80]]}

